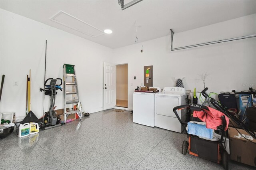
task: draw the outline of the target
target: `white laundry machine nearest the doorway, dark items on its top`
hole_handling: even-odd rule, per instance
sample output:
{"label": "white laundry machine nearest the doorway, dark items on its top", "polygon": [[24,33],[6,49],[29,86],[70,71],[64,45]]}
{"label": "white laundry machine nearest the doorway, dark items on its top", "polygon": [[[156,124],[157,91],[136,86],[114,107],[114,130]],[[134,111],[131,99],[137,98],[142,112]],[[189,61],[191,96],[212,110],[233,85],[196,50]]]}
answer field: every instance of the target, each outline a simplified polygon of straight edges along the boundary
{"label": "white laundry machine nearest the doorway, dark items on its top", "polygon": [[[159,87],[154,87],[161,90]],[[133,93],[133,122],[155,127],[155,95],[157,93]]]}

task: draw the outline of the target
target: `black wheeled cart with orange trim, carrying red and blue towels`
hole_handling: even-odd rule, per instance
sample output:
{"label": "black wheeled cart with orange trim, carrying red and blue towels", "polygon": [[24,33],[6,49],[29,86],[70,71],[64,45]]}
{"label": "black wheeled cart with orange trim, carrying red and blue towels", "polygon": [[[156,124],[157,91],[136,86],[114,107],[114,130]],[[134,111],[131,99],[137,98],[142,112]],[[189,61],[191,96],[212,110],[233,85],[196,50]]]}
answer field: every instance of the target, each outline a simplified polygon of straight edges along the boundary
{"label": "black wheeled cart with orange trim, carrying red and blue towels", "polygon": [[[173,111],[181,125],[184,127],[186,134],[188,134],[188,130],[186,129],[188,122],[182,122],[176,110],[188,107],[191,111],[204,111],[205,113],[206,111],[209,111],[208,107],[198,104],[174,107]],[[222,116],[221,119],[222,125],[213,132],[212,139],[188,134],[188,141],[184,140],[182,144],[182,154],[186,155],[188,152],[191,155],[198,156],[218,164],[222,163],[224,169],[228,169],[228,153],[226,152],[226,149],[229,150],[229,145],[226,142],[226,132],[224,131],[224,128],[226,127],[226,120],[224,116]]]}

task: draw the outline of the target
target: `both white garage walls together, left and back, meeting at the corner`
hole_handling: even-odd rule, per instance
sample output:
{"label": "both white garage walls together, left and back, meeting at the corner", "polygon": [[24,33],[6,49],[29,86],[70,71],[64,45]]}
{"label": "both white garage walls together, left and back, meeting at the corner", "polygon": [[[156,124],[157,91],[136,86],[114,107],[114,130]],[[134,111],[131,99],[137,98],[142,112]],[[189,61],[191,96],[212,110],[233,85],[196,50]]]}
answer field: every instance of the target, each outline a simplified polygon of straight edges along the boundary
{"label": "both white garage walls together, left and back, meeting at the corner", "polygon": [[[6,75],[1,111],[15,111],[17,116],[25,115],[29,69],[32,69],[32,111],[38,117],[42,115],[39,88],[43,87],[45,40],[48,40],[46,78],[62,78],[62,65],[75,64],[83,108],[89,113],[102,110],[104,61],[128,63],[129,109],[132,109],[135,87],[143,83],[145,65],[153,65],[154,86],[161,88],[174,86],[173,77],[185,77],[186,89],[202,90],[199,75],[206,72],[205,83],[210,91],[256,88],[256,38],[170,51],[168,35],[113,50],[6,10],[1,9],[0,15],[0,73]],[[176,33],[173,47],[251,34],[256,34],[256,14]],[[140,52],[142,45],[143,53]],[[19,81],[19,85],[13,86],[14,81]],[[46,96],[45,110],[48,104]],[[58,93],[56,105],[57,109],[63,108],[63,92]]]}

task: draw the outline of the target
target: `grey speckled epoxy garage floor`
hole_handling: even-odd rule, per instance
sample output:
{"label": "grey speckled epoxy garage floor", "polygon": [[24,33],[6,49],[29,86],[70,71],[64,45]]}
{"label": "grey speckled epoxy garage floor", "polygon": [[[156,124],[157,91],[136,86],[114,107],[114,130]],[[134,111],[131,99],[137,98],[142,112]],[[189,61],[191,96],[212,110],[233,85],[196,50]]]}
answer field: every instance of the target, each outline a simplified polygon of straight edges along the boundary
{"label": "grey speckled epoxy garage floor", "polygon": [[[0,140],[0,169],[216,170],[222,165],[181,154],[185,134],[132,123],[129,111],[90,114],[28,137]],[[230,161],[230,170],[255,169]]]}

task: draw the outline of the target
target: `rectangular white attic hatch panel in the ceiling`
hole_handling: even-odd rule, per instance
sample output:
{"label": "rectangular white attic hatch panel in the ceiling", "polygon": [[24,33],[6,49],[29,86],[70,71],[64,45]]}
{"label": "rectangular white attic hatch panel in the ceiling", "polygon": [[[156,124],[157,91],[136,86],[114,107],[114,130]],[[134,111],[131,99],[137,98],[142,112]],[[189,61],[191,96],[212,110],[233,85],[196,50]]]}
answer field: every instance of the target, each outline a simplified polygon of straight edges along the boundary
{"label": "rectangular white attic hatch panel in the ceiling", "polygon": [[102,30],[63,11],[58,12],[50,20],[93,38],[105,34]]}

